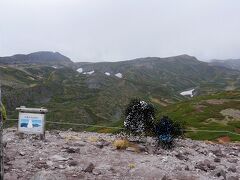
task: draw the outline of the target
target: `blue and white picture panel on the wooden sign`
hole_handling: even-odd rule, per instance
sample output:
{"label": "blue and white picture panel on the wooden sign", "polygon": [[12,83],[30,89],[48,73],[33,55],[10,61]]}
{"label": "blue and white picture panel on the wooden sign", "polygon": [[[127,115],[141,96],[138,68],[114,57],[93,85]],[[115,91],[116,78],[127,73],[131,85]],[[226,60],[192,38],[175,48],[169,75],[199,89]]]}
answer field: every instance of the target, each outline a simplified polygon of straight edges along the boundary
{"label": "blue and white picture panel on the wooden sign", "polygon": [[44,114],[19,113],[18,131],[31,134],[43,134]]}

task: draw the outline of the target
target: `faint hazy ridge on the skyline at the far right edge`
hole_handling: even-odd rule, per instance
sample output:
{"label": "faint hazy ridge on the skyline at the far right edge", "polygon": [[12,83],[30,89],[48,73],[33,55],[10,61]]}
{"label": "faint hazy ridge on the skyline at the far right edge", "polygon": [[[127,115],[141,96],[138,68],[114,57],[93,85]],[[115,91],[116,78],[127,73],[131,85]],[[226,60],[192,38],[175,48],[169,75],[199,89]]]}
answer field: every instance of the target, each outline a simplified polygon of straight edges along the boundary
{"label": "faint hazy ridge on the skyline at the far right edge", "polygon": [[213,66],[221,66],[229,69],[240,70],[240,59],[212,60],[210,64]]}

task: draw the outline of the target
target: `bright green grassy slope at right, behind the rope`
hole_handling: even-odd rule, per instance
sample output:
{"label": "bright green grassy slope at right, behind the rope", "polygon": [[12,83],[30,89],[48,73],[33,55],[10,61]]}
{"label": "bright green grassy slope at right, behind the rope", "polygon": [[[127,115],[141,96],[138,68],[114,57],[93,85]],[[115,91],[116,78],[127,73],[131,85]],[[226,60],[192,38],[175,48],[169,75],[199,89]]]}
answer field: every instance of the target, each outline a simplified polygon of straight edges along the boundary
{"label": "bright green grassy slope at right, behind the rope", "polygon": [[[234,111],[232,112],[231,109]],[[229,113],[222,114],[223,110],[229,111]],[[240,133],[240,91],[199,96],[189,101],[161,108],[159,111],[158,117],[168,115],[175,120],[186,123],[188,130]],[[193,139],[207,140],[214,140],[223,135],[228,135],[232,140],[240,140],[240,136],[219,132],[188,132],[186,135]]]}

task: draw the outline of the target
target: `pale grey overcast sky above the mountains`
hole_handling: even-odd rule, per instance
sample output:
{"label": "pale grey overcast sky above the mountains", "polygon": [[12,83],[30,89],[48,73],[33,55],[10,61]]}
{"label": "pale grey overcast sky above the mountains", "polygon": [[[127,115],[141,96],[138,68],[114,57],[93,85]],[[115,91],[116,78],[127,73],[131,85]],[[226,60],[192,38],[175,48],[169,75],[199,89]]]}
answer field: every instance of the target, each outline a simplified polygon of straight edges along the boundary
{"label": "pale grey overcast sky above the mountains", "polygon": [[0,56],[240,58],[240,0],[0,0]]}

